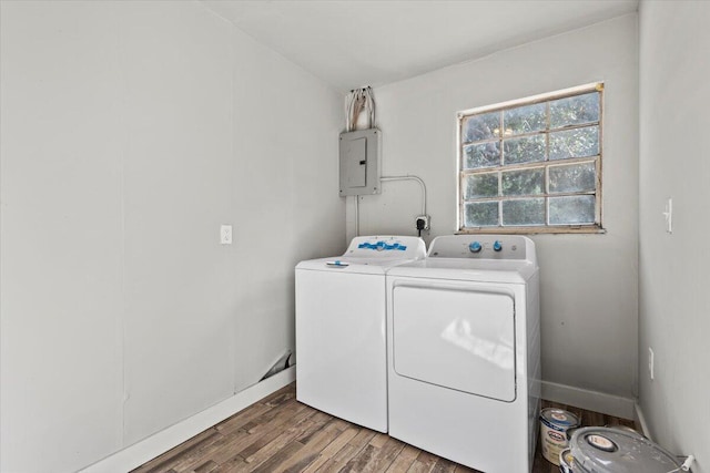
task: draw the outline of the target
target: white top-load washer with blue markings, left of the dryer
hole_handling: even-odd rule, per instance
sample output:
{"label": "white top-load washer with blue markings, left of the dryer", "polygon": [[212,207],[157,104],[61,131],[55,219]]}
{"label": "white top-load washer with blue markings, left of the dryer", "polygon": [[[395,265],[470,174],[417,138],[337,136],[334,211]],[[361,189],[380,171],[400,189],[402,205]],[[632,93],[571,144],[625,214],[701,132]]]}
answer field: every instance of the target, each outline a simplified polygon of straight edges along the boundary
{"label": "white top-load washer with blue markings, left of the dryer", "polygon": [[296,399],[387,432],[385,271],[422,259],[417,237],[356,237],[296,266]]}

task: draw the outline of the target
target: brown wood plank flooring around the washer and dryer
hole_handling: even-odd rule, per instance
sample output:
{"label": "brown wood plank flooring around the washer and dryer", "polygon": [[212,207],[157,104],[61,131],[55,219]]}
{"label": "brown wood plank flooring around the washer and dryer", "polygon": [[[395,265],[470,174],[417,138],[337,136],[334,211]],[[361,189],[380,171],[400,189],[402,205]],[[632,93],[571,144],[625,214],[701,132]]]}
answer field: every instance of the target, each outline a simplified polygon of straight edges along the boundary
{"label": "brown wood plank flooring around the washer and dryer", "polygon": [[[295,383],[205,430],[132,473],[225,472],[475,472],[407,445],[384,433],[351,424],[296,401]],[[633,428],[629,420],[544,401],[567,409],[584,425]],[[536,452],[532,473],[559,469]]]}

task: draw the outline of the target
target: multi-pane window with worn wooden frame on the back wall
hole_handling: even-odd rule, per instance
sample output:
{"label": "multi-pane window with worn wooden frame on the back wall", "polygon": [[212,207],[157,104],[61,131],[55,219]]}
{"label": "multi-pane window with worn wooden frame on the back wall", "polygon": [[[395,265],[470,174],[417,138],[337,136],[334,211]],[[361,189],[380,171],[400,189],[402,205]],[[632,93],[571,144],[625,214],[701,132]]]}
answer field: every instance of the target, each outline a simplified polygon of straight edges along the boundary
{"label": "multi-pane window with worn wooden frame on the back wall", "polygon": [[459,230],[601,230],[602,90],[459,113]]}

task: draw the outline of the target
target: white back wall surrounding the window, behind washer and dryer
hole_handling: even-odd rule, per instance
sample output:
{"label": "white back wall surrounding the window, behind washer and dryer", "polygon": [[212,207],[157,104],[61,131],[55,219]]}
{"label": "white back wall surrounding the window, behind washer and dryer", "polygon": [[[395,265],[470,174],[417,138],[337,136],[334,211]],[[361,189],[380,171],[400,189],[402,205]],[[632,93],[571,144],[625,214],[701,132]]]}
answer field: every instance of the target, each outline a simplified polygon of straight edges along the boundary
{"label": "white back wall surrounding the window, behind washer and dryer", "polygon": [[[621,397],[627,415],[637,384],[637,16],[630,14],[375,90],[383,175],[414,174],[426,182],[430,239],[456,232],[457,111],[605,82],[607,233],[534,237],[541,268],[542,376],[564,385],[548,395],[566,402],[578,402],[586,391]],[[418,185],[382,187],[379,196],[361,197],[361,234],[414,234]],[[348,236],[353,216],[351,199]],[[605,402],[594,407],[615,409]]]}

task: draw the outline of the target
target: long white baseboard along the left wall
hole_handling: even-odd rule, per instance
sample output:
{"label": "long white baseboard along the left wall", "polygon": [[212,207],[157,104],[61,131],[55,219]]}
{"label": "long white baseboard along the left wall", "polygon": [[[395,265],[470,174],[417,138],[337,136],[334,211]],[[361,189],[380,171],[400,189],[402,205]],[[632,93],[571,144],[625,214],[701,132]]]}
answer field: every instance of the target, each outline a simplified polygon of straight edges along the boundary
{"label": "long white baseboard along the left wall", "polygon": [[272,392],[278,391],[296,379],[296,367],[287,368],[244,391],[215,404],[204,411],[162,430],[148,439],[128,446],[92,465],[80,473],[115,473],[131,471],[149,460],[165,453],[200,432],[232,417]]}

